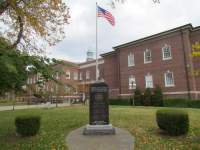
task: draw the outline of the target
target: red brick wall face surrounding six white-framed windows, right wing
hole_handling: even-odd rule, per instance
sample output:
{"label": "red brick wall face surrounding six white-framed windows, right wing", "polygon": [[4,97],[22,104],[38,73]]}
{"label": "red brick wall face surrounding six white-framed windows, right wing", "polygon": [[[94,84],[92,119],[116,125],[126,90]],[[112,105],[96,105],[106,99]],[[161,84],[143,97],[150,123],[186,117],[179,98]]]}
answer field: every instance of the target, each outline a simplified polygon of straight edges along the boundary
{"label": "red brick wall face surrounding six white-framed windows, right wing", "polygon": [[[162,47],[164,44],[171,45],[172,59],[162,60]],[[148,48],[152,53],[152,63],[144,64],[144,50]],[[145,75],[153,76],[154,87],[160,85],[163,92],[187,91],[186,71],[180,33],[165,36],[160,39],[149,40],[138,45],[118,50],[120,53],[120,77],[121,94],[131,93],[128,89],[129,75],[134,75],[136,84],[145,89]],[[134,53],[135,66],[128,67],[128,54]],[[174,87],[165,87],[164,73],[172,71],[175,80]]]}

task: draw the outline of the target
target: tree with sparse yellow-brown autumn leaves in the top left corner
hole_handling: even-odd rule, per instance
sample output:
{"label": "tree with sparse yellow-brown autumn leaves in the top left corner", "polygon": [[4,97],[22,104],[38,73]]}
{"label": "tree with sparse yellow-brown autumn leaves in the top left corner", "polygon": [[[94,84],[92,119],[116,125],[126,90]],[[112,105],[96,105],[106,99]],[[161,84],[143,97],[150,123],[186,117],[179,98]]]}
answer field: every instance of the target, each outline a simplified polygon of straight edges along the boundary
{"label": "tree with sparse yellow-brown autumn leaves in the top left corner", "polygon": [[64,38],[69,17],[62,0],[0,0],[0,21],[8,28],[0,36],[12,47],[41,52]]}

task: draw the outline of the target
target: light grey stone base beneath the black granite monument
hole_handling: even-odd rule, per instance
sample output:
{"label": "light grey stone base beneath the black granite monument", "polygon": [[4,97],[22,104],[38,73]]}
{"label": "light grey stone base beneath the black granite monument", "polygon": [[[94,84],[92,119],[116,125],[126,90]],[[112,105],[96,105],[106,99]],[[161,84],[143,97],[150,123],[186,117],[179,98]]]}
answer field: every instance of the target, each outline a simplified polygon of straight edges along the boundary
{"label": "light grey stone base beneath the black granite monument", "polygon": [[83,129],[83,135],[113,135],[115,128],[112,124],[108,125],[90,125],[87,124]]}

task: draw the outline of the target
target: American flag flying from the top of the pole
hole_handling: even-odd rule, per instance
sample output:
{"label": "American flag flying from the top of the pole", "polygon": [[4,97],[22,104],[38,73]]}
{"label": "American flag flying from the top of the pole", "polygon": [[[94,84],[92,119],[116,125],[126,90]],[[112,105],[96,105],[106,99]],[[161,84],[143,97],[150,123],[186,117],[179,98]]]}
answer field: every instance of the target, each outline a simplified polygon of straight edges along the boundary
{"label": "American flag flying from the top of the pole", "polygon": [[97,16],[98,17],[104,17],[104,18],[106,18],[106,20],[108,20],[108,22],[112,26],[114,26],[115,25],[115,18],[113,17],[113,15],[109,11],[107,11],[107,10],[105,10],[105,9],[99,7],[99,6],[97,6],[97,7],[98,7],[98,14],[97,14]]}

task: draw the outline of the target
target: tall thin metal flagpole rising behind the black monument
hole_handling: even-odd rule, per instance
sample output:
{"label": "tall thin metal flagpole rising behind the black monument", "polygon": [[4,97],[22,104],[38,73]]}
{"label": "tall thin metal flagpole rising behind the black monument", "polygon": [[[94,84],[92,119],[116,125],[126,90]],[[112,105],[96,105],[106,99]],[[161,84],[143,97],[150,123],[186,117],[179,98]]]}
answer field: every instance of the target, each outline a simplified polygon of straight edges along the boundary
{"label": "tall thin metal flagpole rising behind the black monument", "polygon": [[98,4],[96,2],[96,81],[98,81]]}

